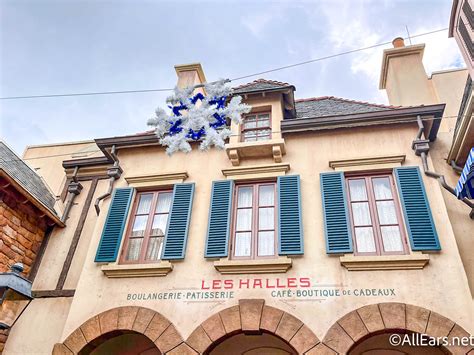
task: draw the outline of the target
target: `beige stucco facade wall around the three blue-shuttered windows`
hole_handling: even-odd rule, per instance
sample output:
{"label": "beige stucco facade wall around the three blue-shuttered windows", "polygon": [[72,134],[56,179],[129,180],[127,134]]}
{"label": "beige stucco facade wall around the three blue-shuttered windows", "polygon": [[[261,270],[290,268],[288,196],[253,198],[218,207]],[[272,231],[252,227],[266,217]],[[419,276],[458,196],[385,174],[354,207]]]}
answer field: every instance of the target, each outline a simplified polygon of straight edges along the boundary
{"label": "beige stucco facade wall around the three blue-shuttered windows", "polygon": [[[50,349],[47,344],[53,338],[55,341],[64,340],[73,330],[90,317],[110,308],[124,305],[141,305],[152,308],[169,318],[186,338],[202,321],[221,309],[235,305],[239,298],[264,298],[266,304],[275,306],[301,319],[318,337],[322,338],[328,328],[341,316],[366,304],[396,301],[419,305],[436,311],[473,331],[472,302],[467,286],[452,226],[449,222],[443,196],[438,183],[424,177],[428,198],[434,220],[439,233],[442,251],[430,255],[430,263],[423,270],[400,271],[366,271],[349,272],[339,263],[338,257],[330,257],[325,252],[323,221],[321,210],[321,192],[319,188],[319,173],[329,171],[330,160],[380,156],[391,154],[406,154],[404,165],[419,165],[420,160],[410,149],[411,141],[416,135],[416,125],[399,125],[381,127],[374,130],[368,128],[353,128],[338,130],[327,134],[292,134],[286,137],[287,155],[284,162],[291,165],[291,174],[300,174],[302,191],[303,226],[305,236],[305,254],[294,258],[293,267],[286,274],[267,275],[220,275],[213,267],[213,262],[205,260],[204,245],[207,229],[210,189],[212,180],[223,179],[221,169],[231,167],[225,152],[212,150],[202,153],[191,152],[184,159],[178,153],[168,157],[164,150],[156,147],[131,148],[119,151],[124,177],[127,175],[146,175],[151,173],[168,173],[186,171],[188,182],[196,183],[190,222],[189,239],[186,258],[182,262],[173,262],[174,270],[166,277],[109,279],[104,276],[100,265],[94,263],[94,257],[102,232],[110,199],[102,204],[102,212],[97,223],[93,222],[85,228],[84,235],[90,234],[90,244],[80,244],[78,253],[85,253],[84,266],[73,263],[71,275],[79,275],[76,294],[72,300],[70,312],[64,328],[55,328],[51,339],[44,345],[38,344],[38,350]],[[343,143],[342,143],[343,142]],[[374,151],[374,147],[378,147]],[[243,165],[271,163],[270,159],[254,159],[243,161]],[[157,167],[159,167],[157,169]],[[121,178],[116,187],[126,186]],[[103,184],[97,193],[103,192]],[[79,199],[83,199],[82,193]],[[79,205],[81,204],[79,200]],[[71,219],[77,218],[77,212],[72,213]],[[71,220],[72,223],[72,220]],[[64,236],[63,236],[64,237]],[[87,236],[86,236],[87,238]],[[54,235],[45,254],[44,264],[35,282],[35,288],[50,288],[55,285],[55,277],[62,267],[63,241]],[[82,270],[78,270],[82,269]],[[46,272],[47,270],[47,272]],[[71,276],[75,278],[76,276]],[[270,290],[234,290],[235,298],[223,302],[186,302],[169,300],[128,301],[129,293],[148,293],[176,291],[183,289],[187,292],[196,291],[201,286],[201,280],[239,279],[239,278],[276,278],[309,277],[316,285],[344,285],[348,289],[359,288],[394,288],[396,296],[345,296],[327,298],[323,301],[298,302],[291,299],[271,297]],[[71,281],[72,282],[72,281]],[[71,284],[72,285],[72,284]],[[415,286],[416,285],[416,286]],[[330,287],[329,287],[330,288]],[[449,302],[447,302],[449,300]],[[56,302],[51,300],[50,302]],[[61,301],[57,301],[61,302]],[[192,317],[189,315],[192,314]],[[31,312],[22,316],[22,322],[15,326],[14,333],[28,334],[35,331],[37,326]],[[63,315],[51,312],[55,322],[60,322]],[[30,321],[31,318],[31,321]],[[37,328],[36,328],[37,329]],[[60,332],[61,334],[58,334]],[[26,351],[29,346],[22,342],[20,336],[13,336],[7,343],[6,354],[15,351]]]}

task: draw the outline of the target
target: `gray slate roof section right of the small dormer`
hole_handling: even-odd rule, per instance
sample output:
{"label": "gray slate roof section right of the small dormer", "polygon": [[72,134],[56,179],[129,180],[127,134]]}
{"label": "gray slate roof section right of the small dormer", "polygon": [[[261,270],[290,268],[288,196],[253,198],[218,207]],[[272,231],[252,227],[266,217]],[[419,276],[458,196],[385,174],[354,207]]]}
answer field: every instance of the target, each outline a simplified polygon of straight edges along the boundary
{"label": "gray slate roof section right of the small dormer", "polygon": [[296,118],[318,118],[393,110],[397,107],[341,99],[334,96],[297,100]]}

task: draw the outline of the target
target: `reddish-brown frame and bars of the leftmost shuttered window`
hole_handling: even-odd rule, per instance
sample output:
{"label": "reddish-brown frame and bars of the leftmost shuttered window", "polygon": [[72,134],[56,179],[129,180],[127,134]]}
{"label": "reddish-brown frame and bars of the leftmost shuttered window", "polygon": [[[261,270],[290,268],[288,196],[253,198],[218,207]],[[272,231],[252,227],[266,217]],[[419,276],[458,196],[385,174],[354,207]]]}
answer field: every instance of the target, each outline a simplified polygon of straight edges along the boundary
{"label": "reddish-brown frame and bars of the leftmost shuttered window", "polygon": [[[146,259],[148,244],[149,244],[150,239],[152,237],[151,236],[151,230],[152,230],[152,227],[153,227],[153,219],[154,219],[155,215],[163,214],[163,213],[156,213],[155,212],[156,211],[156,205],[158,203],[158,196],[162,193],[171,193],[171,194],[173,194],[173,188],[164,188],[164,189],[160,189],[160,190],[156,190],[156,189],[140,190],[140,191],[136,192],[136,194],[134,196],[133,207],[132,207],[132,210],[131,210],[130,215],[129,215],[128,226],[127,226],[127,229],[126,229],[126,233],[124,235],[124,241],[122,243],[122,250],[120,251],[119,264],[153,264],[153,263],[159,263],[162,260],[163,250],[161,252],[161,255],[160,255],[159,259],[153,259],[153,260],[147,260]],[[140,197],[143,196],[143,195],[148,195],[148,194],[152,194],[152,201],[151,201],[151,205],[150,205],[150,211],[148,212],[148,219],[147,219],[147,223],[146,223],[146,226],[145,226],[145,232],[144,232],[144,235],[143,235],[143,242],[142,242],[141,249],[140,249],[140,256],[138,257],[138,260],[127,260],[127,253],[128,253],[128,247],[130,245],[130,239],[136,239],[136,238],[132,238],[132,230],[133,230],[133,224],[135,223],[135,218],[137,216],[138,205],[140,203]],[[169,223],[169,218],[170,218],[170,215],[171,215],[172,206],[173,206],[173,200],[171,200],[170,209],[169,209],[169,212],[168,212],[167,226],[168,226],[168,223]],[[163,236],[163,248],[164,248],[166,233],[167,233],[167,231],[165,231],[165,235]]]}

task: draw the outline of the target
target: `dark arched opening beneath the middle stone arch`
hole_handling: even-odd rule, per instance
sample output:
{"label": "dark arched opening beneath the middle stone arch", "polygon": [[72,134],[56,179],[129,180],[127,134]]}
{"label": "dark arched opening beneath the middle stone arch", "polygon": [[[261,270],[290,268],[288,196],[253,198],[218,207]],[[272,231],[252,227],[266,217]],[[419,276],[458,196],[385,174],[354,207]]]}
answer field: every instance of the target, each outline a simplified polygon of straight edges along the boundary
{"label": "dark arched opening beneath the middle stone arch", "polygon": [[206,354],[296,355],[297,352],[288,342],[270,333],[238,333],[213,344]]}

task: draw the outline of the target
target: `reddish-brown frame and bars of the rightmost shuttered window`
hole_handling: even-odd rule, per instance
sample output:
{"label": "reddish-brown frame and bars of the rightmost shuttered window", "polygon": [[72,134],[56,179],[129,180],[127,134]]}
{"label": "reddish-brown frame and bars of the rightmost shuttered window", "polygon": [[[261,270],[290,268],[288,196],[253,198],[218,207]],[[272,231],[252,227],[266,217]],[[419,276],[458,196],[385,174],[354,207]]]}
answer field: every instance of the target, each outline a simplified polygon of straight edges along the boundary
{"label": "reddish-brown frame and bars of the rightmost shuttered window", "polygon": [[[377,200],[375,198],[375,192],[373,188],[372,179],[373,178],[384,178],[387,177],[390,181],[390,188],[392,192],[392,199],[383,199]],[[372,221],[370,225],[372,227],[374,233],[374,243],[375,243],[375,252],[359,252],[357,250],[357,239],[355,233],[355,225],[354,225],[354,217],[353,217],[353,210],[352,210],[352,200],[349,188],[349,181],[350,180],[361,180],[364,179],[365,188],[367,192],[367,200],[364,201],[354,201],[354,202],[367,202],[369,204],[369,214]],[[405,222],[403,219],[403,213],[401,209],[400,199],[398,196],[398,191],[396,189],[395,180],[393,178],[392,171],[385,171],[385,172],[365,172],[365,173],[354,173],[354,174],[344,174],[345,180],[345,187],[346,187],[346,198],[347,204],[349,209],[349,220],[351,224],[351,232],[352,232],[352,242],[354,245],[354,255],[360,256],[382,256],[382,255],[408,255],[410,254],[410,249],[408,247],[407,241],[407,233],[405,229]],[[397,216],[398,224],[382,224],[380,223],[378,210],[377,210],[377,201],[393,201],[395,205],[395,214]],[[403,246],[402,251],[390,251],[387,252],[384,250],[383,246],[383,238],[382,238],[382,230],[381,226],[395,226],[397,225],[400,230],[400,238],[401,243]],[[367,225],[368,226],[368,225]],[[360,226],[359,226],[360,227]]]}

